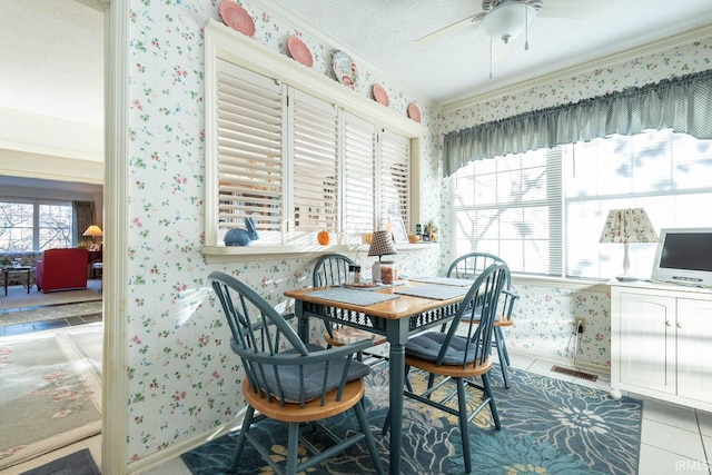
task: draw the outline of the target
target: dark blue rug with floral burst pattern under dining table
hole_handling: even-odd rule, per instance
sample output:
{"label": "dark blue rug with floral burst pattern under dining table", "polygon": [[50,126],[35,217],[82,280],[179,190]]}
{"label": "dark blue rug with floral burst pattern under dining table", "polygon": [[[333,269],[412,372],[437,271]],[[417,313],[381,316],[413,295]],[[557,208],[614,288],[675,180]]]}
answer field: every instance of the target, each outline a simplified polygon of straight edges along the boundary
{"label": "dark blue rug with floral burst pattern under dining table", "polygon": [[[498,368],[493,373],[495,400],[502,431],[491,427],[488,410],[481,413],[471,431],[473,473],[545,473],[562,475],[634,474],[641,444],[642,403],[545,376],[512,369],[510,389],[503,387]],[[380,365],[367,376],[366,410],[382,459],[388,461],[388,438],[380,436],[387,413],[388,374]],[[413,379],[419,386],[424,380]],[[471,392],[474,393],[474,392]],[[476,404],[476,400],[469,402]],[[350,413],[347,413],[350,414]],[[337,434],[355,429],[354,417],[328,419]],[[273,420],[253,431],[284,461],[286,431]],[[209,442],[182,459],[194,475],[227,473],[237,432]],[[422,404],[406,400],[403,415],[403,473],[462,474],[464,465],[457,420]],[[238,474],[269,472],[248,443]],[[363,444],[318,465],[309,474],[369,473],[370,461]]]}

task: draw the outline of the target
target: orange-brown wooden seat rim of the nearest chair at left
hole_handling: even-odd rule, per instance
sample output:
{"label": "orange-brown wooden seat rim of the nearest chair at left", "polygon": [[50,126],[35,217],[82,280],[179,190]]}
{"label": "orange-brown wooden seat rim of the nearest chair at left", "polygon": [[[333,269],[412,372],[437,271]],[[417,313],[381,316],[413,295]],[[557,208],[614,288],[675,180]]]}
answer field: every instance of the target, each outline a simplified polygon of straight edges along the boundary
{"label": "orange-brown wooden seat rim of the nearest chair at left", "polygon": [[243,395],[245,399],[260,414],[284,423],[308,423],[332,417],[352,408],[364,396],[363,379],[353,380],[344,387],[342,400],[336,400],[338,389],[326,394],[326,400],[322,405],[322,398],[306,403],[300,407],[298,403],[286,403],[284,406],[274,397],[271,402],[263,394],[257,394],[249,385],[249,380],[243,382]]}

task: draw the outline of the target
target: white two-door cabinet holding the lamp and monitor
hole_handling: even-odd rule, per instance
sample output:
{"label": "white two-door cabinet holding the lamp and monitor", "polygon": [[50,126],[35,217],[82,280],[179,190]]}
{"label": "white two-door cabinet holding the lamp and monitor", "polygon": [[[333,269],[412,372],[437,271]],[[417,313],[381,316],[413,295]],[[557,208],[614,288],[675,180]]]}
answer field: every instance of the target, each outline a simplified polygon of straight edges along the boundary
{"label": "white two-door cabinet holding the lamp and monitor", "polygon": [[612,284],[611,388],[712,412],[712,291]]}

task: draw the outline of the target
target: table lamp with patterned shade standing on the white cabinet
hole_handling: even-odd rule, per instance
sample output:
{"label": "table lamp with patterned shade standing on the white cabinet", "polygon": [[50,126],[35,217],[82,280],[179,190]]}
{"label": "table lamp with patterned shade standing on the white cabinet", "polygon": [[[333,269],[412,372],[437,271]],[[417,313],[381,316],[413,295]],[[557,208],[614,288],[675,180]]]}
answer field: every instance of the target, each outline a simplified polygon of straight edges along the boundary
{"label": "table lamp with patterned shade standing on the white cabinet", "polygon": [[623,275],[621,281],[637,280],[629,274],[631,263],[627,257],[630,243],[657,243],[657,235],[643,208],[612,209],[603,225],[600,243],[623,243]]}

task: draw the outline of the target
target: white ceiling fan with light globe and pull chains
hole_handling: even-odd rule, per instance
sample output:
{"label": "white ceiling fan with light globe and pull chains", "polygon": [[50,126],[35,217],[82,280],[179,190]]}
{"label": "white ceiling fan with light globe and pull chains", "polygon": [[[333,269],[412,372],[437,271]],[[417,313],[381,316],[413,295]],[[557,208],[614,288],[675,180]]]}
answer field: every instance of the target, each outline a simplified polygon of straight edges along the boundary
{"label": "white ceiling fan with light globe and pull chains", "polygon": [[482,12],[415,40],[426,44],[468,27],[479,28],[493,42],[507,44],[521,34],[535,17],[592,18],[605,11],[613,0],[482,0]]}

